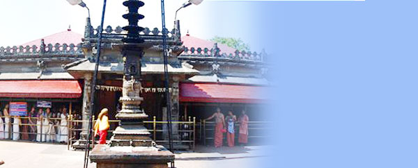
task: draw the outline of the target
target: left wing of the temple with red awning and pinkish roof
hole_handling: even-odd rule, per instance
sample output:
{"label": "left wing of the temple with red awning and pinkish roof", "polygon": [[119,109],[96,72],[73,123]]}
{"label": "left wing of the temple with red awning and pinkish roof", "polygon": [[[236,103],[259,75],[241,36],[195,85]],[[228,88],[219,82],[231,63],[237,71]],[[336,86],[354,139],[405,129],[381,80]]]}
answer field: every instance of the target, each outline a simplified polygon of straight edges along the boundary
{"label": "left wing of the temple with red awning and pinkish roof", "polygon": [[0,108],[13,101],[49,101],[52,110],[82,106],[82,81],[62,65],[84,58],[82,35],[70,29],[22,44],[0,47]]}

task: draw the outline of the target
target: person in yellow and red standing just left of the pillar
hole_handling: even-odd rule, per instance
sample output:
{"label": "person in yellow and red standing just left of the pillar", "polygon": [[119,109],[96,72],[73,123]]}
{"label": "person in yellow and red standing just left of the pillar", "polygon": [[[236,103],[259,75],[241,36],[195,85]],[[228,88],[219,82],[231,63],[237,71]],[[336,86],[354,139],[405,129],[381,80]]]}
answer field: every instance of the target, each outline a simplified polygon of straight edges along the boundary
{"label": "person in yellow and red standing just left of the pillar", "polygon": [[107,117],[108,112],[107,108],[103,108],[94,124],[94,137],[99,135],[99,144],[106,144],[107,130],[110,127],[109,117]]}

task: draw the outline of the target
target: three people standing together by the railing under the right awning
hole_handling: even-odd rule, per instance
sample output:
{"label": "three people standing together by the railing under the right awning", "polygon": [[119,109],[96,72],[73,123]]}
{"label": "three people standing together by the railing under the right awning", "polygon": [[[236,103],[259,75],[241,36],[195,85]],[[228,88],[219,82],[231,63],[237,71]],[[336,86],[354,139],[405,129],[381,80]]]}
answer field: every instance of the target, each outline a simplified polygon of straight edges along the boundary
{"label": "three people standing together by the railing under the right awning", "polygon": [[223,144],[224,133],[226,133],[226,141],[228,146],[233,147],[235,145],[235,123],[240,124],[238,142],[240,144],[247,144],[248,142],[248,122],[249,118],[245,114],[245,110],[242,110],[240,118],[233,115],[232,110],[228,111],[228,115],[224,117],[221,109],[217,108],[217,111],[205,120],[215,118],[215,147],[221,147]]}

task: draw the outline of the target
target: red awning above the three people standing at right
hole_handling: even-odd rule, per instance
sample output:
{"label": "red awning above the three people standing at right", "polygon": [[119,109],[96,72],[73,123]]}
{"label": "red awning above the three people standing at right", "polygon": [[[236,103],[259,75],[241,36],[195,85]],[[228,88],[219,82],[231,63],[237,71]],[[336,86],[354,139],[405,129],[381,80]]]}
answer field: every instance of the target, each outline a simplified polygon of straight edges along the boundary
{"label": "red awning above the three people standing at right", "polygon": [[180,101],[204,103],[257,103],[262,87],[217,83],[181,83]]}

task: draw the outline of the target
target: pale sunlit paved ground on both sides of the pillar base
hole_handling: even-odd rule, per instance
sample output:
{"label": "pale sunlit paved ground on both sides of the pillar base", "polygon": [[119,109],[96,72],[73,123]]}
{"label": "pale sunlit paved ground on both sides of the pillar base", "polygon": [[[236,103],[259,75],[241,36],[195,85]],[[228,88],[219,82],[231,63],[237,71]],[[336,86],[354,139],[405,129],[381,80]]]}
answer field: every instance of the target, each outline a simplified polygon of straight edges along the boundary
{"label": "pale sunlit paved ground on both sides of the pillar base", "polygon": [[[176,167],[256,167],[262,158],[260,146],[212,148],[197,146],[195,152],[176,152]],[[0,141],[0,160],[6,167],[72,168],[83,167],[84,151],[68,151],[63,144],[38,144],[32,142]],[[95,164],[89,164],[94,168]]]}

